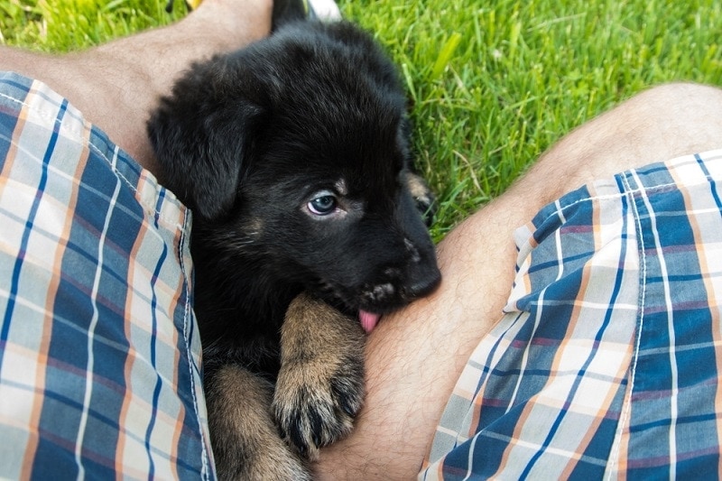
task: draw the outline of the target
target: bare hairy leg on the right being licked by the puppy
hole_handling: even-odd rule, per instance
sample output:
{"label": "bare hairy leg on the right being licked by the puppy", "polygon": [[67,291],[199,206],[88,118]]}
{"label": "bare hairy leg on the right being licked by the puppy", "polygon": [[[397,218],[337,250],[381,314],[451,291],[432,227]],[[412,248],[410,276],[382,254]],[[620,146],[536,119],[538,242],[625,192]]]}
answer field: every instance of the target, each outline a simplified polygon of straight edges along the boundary
{"label": "bare hairy leg on the right being licked by the puppy", "polygon": [[439,245],[440,289],[368,338],[366,404],[351,437],[321,452],[319,476],[416,476],[468,356],[500,318],[514,280],[514,229],[590,180],[719,148],[721,131],[722,90],[653,88],[566,136],[458,226]]}

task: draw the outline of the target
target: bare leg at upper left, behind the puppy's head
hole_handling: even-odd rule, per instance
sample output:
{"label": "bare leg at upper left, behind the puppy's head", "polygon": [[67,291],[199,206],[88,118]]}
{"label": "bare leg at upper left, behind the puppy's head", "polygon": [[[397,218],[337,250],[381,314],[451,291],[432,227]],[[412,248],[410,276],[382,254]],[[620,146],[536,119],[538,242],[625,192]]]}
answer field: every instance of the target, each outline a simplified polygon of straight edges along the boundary
{"label": "bare leg at upper left, behind the puppy's head", "polygon": [[145,122],[194,60],[266,35],[272,0],[206,0],[179,23],[88,51],[46,55],[0,47],[0,69],[42,80],[134,159],[158,175]]}

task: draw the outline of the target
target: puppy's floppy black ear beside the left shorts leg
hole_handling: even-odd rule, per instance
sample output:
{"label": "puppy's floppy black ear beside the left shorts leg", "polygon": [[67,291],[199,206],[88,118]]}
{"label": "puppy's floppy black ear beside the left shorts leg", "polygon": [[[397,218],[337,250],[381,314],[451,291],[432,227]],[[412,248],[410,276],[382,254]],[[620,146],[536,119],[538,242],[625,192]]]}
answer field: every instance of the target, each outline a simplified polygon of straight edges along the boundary
{"label": "puppy's floppy black ear beside the left shorts leg", "polygon": [[148,134],[163,185],[199,216],[223,217],[236,200],[261,109],[239,99],[220,104],[192,97],[163,98]]}

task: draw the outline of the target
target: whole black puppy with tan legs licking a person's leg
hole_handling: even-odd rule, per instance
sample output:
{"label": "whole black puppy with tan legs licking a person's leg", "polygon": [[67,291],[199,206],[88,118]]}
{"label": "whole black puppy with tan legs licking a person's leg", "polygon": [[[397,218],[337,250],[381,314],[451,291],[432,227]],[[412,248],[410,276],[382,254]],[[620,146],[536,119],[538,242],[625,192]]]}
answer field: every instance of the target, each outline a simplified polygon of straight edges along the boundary
{"label": "whole black puppy with tan legs licking a person's leg", "polygon": [[359,319],[439,284],[405,104],[365,32],[304,21],[194,65],[153,114],[162,180],[194,215],[219,476],[307,476],[361,406]]}

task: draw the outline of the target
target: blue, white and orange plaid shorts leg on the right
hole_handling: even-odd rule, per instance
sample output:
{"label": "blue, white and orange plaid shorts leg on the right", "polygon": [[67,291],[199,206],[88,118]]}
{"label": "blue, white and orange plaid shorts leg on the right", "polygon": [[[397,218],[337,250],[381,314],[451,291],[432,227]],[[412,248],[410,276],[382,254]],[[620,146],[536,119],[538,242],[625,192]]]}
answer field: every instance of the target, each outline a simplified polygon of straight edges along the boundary
{"label": "blue, white and orange plaid shorts leg on the right", "polygon": [[722,151],[656,163],[519,229],[420,478],[718,478],[720,180]]}

